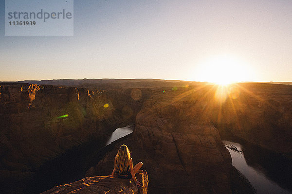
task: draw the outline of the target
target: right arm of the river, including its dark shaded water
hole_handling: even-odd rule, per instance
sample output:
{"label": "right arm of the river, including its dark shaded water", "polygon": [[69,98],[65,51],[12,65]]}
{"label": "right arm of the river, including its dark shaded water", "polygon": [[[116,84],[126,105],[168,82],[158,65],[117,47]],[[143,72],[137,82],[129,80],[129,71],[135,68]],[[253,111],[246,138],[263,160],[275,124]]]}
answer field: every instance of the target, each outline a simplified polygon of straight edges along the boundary
{"label": "right arm of the river, including its dark shaded water", "polygon": [[[280,159],[275,158],[277,157],[275,154],[272,156],[264,155],[268,153],[259,150],[258,147],[256,147],[255,151],[255,147],[251,145],[246,146],[230,141],[222,142],[231,154],[233,166],[251,182],[256,188],[257,194],[292,194],[292,190],[289,187],[291,185],[273,176],[273,172],[278,171],[277,173],[281,173],[283,179],[287,179],[287,183],[291,181],[290,168],[287,166],[286,169],[283,169],[283,166],[289,164],[281,166],[281,163],[279,163]],[[276,166],[274,166],[275,161],[277,161]],[[263,163],[266,165],[263,165]]]}

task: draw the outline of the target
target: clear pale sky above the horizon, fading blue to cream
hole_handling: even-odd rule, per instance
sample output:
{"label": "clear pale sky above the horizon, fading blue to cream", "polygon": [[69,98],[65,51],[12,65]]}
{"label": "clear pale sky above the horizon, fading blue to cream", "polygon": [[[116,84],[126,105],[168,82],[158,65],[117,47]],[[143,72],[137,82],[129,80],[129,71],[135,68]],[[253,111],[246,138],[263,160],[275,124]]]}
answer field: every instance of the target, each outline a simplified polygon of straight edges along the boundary
{"label": "clear pale sky above the horizon, fading blue to cream", "polygon": [[292,81],[292,0],[74,0],[73,36],[4,36],[0,0],[0,81],[83,78]]}

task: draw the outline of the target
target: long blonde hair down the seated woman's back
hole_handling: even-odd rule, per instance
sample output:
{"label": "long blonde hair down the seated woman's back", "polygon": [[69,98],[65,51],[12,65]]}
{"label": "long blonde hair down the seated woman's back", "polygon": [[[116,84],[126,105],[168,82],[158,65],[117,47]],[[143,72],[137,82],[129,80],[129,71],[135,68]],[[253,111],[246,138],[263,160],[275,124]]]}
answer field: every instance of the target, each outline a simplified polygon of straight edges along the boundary
{"label": "long blonde hair down the seated woman's back", "polygon": [[116,165],[116,172],[119,174],[126,174],[127,168],[130,165],[130,150],[126,145],[120,146],[120,149],[114,159]]}

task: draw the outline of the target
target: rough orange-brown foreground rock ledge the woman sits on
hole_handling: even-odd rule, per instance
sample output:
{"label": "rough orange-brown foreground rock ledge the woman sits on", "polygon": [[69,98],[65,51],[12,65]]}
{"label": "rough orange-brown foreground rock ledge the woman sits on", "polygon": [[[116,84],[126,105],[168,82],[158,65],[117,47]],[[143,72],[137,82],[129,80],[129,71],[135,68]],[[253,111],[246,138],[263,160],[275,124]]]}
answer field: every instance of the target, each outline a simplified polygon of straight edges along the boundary
{"label": "rough orange-brown foreground rock ledge the woman sits on", "polygon": [[147,172],[139,171],[136,178],[141,182],[141,189],[137,188],[132,179],[98,176],[83,178],[67,185],[55,186],[42,194],[147,194]]}

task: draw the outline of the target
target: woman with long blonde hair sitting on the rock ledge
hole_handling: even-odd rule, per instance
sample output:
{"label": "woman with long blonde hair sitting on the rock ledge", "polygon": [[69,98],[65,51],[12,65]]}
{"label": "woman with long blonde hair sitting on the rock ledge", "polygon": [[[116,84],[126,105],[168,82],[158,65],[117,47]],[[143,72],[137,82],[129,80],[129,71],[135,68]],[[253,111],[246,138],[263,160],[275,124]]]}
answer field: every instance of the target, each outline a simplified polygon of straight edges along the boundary
{"label": "woman with long blonde hair sitting on the rock ledge", "polygon": [[133,161],[130,151],[126,145],[122,145],[114,159],[114,168],[111,173],[113,178],[133,179],[136,186],[140,187],[140,182],[137,181],[135,174],[142,167],[143,163],[139,162],[133,167]]}

